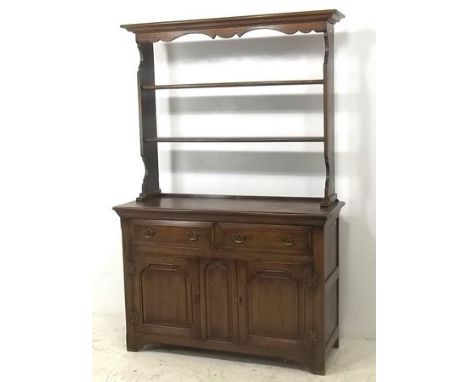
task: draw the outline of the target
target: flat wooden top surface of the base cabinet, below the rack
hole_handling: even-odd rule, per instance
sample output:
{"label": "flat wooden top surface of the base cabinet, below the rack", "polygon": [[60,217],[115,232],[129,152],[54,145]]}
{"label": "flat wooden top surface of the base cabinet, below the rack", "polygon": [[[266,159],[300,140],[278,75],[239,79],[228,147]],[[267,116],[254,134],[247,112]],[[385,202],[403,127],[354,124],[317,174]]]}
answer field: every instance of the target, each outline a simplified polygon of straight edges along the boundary
{"label": "flat wooden top surface of the base cabinet, below the rack", "polygon": [[161,194],[145,201],[132,201],[116,206],[114,210],[119,214],[139,211],[167,211],[275,214],[326,219],[339,211],[343,205],[343,202],[338,202],[330,208],[320,208],[319,198]]}

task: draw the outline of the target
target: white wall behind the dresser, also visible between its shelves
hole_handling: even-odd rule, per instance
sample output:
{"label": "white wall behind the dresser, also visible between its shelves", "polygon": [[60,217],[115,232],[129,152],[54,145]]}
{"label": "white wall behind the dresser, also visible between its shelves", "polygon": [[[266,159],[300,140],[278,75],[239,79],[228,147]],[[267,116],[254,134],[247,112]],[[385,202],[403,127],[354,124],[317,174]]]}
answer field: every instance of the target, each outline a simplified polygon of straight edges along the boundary
{"label": "white wall behind the dresser, also visible between its shelves", "polygon": [[[100,84],[96,106],[101,116],[98,124],[93,121],[98,127],[90,139],[102,144],[95,166],[106,173],[108,191],[100,190],[102,203],[93,211],[91,223],[99,231],[93,244],[98,248],[96,314],[123,314],[120,228],[110,208],[138,194],[143,172],[136,102],[139,56],[133,35],[118,25],[310,9],[303,1],[287,6],[249,4],[216,11],[201,6],[181,11],[177,4],[144,12],[119,9],[95,31],[97,39],[107,41],[96,47],[102,49],[95,52],[97,57],[89,57]],[[335,28],[336,188],[346,202],[340,230],[340,318],[343,335],[374,338],[375,29],[368,2],[353,7],[339,1],[314,4],[315,9],[333,7],[346,15]],[[159,83],[321,76],[321,35],[289,37],[258,31],[242,39],[187,36],[177,41],[155,45]],[[159,134],[320,135],[319,91],[320,87],[307,86],[158,92]],[[320,149],[313,143],[161,144],[161,186],[166,192],[320,196],[324,172]]]}

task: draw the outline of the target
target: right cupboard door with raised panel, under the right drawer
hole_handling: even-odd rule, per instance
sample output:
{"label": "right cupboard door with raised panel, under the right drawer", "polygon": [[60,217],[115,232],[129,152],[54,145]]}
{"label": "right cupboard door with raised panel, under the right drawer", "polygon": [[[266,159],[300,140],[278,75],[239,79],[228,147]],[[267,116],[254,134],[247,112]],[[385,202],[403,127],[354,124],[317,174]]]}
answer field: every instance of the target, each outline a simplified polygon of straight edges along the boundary
{"label": "right cupboard door with raised panel, under the right drawer", "polygon": [[[239,262],[240,341],[262,347],[304,345],[310,301],[304,264]],[[310,309],[309,309],[310,311]]]}

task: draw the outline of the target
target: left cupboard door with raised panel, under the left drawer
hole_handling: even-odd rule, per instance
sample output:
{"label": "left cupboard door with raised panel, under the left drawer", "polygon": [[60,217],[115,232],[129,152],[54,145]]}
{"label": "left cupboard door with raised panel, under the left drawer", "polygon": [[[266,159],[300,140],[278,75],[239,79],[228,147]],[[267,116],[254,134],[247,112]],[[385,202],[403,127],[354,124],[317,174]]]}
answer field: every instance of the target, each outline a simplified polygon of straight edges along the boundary
{"label": "left cupboard door with raised panel, under the left drawer", "polygon": [[153,334],[199,337],[198,259],[136,257],[138,328]]}

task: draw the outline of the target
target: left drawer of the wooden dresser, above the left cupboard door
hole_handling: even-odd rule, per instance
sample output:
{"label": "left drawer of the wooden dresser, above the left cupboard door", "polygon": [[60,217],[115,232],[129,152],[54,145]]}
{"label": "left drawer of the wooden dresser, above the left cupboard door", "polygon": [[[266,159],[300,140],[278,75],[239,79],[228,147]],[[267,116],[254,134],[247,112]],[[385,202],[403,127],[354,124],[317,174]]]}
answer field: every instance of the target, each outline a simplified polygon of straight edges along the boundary
{"label": "left drawer of the wooden dresser, above the left cupboard door", "polygon": [[133,220],[132,240],[167,246],[206,248],[212,246],[210,222]]}

